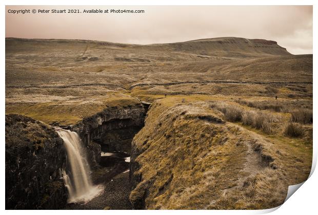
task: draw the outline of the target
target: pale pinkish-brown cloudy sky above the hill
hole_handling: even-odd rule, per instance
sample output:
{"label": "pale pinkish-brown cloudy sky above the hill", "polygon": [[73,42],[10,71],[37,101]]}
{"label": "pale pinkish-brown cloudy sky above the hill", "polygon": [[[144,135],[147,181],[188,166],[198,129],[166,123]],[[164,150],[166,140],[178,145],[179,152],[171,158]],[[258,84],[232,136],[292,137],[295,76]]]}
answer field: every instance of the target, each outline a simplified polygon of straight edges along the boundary
{"label": "pale pinkish-brown cloudy sky above the hill", "polygon": [[[129,9],[145,13],[8,12],[21,9]],[[6,6],[6,37],[153,44],[223,36],[275,40],[292,54],[311,54],[312,6]]]}

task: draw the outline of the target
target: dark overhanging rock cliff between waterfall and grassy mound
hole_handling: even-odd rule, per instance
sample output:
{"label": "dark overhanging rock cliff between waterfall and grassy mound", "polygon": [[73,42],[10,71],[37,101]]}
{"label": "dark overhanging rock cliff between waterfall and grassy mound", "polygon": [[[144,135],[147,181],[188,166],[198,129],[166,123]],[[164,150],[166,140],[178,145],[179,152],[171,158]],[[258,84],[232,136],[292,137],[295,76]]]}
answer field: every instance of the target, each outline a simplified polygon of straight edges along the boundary
{"label": "dark overhanging rock cliff between waterfall and grassy mound", "polygon": [[130,153],[133,136],[144,125],[145,109],[141,103],[109,107],[83,119],[72,127],[87,146],[91,166],[98,164],[104,152]]}

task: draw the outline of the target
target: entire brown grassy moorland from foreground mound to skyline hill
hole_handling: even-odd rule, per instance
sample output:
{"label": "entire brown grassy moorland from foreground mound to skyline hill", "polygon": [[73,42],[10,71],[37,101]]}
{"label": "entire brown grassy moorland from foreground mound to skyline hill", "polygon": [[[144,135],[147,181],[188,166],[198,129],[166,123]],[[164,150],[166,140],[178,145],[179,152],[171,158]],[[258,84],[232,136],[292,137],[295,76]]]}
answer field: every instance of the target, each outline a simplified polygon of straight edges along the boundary
{"label": "entire brown grassy moorland from foreground mound to skyline hill", "polygon": [[[107,178],[109,198],[124,193],[89,209],[271,208],[310,173],[312,54],[236,37],[152,45],[6,38],[6,116],[6,177],[19,155],[16,130],[25,137],[43,123],[82,134],[93,179]],[[34,135],[26,150],[41,154],[50,138],[41,145]],[[103,166],[101,151],[129,154],[129,173],[111,180],[127,166]],[[109,184],[118,178],[126,188]],[[7,195],[6,187],[6,205]],[[56,207],[41,195],[35,208]]]}

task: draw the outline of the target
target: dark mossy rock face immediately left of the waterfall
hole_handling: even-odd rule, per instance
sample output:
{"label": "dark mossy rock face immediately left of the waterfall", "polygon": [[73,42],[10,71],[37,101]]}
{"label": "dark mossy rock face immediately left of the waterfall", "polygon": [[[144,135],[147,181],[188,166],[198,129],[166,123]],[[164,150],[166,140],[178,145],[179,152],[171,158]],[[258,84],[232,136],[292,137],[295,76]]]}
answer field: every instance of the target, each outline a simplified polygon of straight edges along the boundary
{"label": "dark mossy rock face immediately left of the waterfall", "polygon": [[63,140],[30,117],[6,115],[6,209],[56,209],[67,201]]}

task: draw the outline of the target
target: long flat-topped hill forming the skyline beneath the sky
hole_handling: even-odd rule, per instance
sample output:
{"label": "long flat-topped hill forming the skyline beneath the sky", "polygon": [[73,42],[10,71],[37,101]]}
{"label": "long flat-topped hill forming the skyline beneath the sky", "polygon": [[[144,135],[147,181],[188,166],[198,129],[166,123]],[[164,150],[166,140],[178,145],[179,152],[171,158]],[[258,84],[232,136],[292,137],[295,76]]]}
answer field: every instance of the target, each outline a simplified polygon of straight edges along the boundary
{"label": "long flat-topped hill forming the skyline beneath the sky", "polygon": [[[207,56],[262,56],[262,55],[290,55],[287,50],[276,41],[265,39],[246,39],[239,37],[220,37],[209,39],[197,39],[185,42],[169,44],[130,45],[106,41],[77,40],[77,39],[23,39],[6,38],[6,51],[23,51],[26,47],[32,49],[65,48],[67,46],[90,45],[99,49],[132,49],[168,52],[186,52]],[[26,50],[25,50],[26,51]]]}

